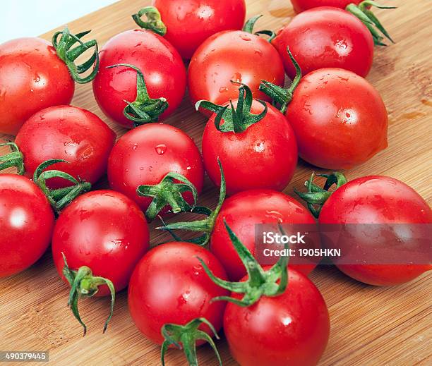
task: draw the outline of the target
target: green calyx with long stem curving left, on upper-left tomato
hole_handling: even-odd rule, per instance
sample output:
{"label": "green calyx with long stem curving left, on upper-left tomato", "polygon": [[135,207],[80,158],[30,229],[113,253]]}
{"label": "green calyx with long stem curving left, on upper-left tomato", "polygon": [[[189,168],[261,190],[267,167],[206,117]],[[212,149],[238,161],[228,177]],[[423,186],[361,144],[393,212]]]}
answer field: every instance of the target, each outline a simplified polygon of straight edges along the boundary
{"label": "green calyx with long stem curving left, on upper-left tomato", "polygon": [[167,99],[163,97],[157,99],[150,98],[147,86],[145,85],[144,75],[136,66],[128,63],[117,63],[116,65],[107,66],[107,68],[119,66],[133,68],[136,71],[136,99],[134,102],[124,101],[127,104],[123,110],[124,116],[132,121],[135,127],[145,123],[157,122],[159,116],[168,108]]}

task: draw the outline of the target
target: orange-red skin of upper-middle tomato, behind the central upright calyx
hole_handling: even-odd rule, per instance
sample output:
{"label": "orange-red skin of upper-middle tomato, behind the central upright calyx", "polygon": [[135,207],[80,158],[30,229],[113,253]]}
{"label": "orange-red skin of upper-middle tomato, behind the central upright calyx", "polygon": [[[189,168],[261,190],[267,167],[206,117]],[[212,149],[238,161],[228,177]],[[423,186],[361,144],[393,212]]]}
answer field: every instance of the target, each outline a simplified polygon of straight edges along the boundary
{"label": "orange-red skin of upper-middle tomato, behind the central upright calyx", "polygon": [[261,80],[282,86],[284,78],[282,60],[267,40],[241,30],[224,31],[208,37],[193,54],[188,91],[193,104],[204,99],[222,105],[239,97],[234,80],[248,85],[255,99],[270,102],[258,91]]}

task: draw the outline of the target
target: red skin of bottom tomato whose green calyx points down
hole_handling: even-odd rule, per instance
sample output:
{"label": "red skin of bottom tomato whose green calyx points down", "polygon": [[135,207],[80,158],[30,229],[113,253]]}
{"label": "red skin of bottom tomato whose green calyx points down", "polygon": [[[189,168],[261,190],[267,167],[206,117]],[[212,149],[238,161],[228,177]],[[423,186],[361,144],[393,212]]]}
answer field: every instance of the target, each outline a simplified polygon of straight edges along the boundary
{"label": "red skin of bottom tomato whose green calyx points down", "polygon": [[[197,257],[215,276],[227,279],[222,264],[211,252],[184,242],[152,248],[133,271],[128,288],[129,310],[136,327],[152,342],[162,344],[160,331],[164,324],[184,325],[197,317],[208,319],[216,331],[222,328],[225,303],[210,300],[229,295],[229,291],[210,280]],[[208,326],[200,329],[213,336]]]}

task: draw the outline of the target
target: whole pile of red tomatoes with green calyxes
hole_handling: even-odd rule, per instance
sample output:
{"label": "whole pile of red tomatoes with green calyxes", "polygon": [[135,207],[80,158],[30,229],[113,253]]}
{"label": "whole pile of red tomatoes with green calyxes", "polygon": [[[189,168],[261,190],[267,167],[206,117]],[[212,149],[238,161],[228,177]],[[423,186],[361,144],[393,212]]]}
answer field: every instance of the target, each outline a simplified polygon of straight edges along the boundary
{"label": "whole pile of red tomatoes with green calyxes", "polygon": [[[316,365],[330,332],[328,308],[307,277],[319,259],[288,265],[281,257],[261,266],[256,225],[428,225],[432,212],[412,188],[385,176],[347,182],[328,173],[323,188],[312,176],[307,192],[298,193],[308,209],[282,193],[299,157],[349,169],[385,149],[388,132],[383,100],[364,79],[374,44],[392,42],[371,11],[378,5],[292,3],[299,14],[277,33],[254,31],[260,16],[244,24],[244,0],[153,0],[133,15],[139,29],[102,49],[85,41],[89,32],[68,28],[52,42],[1,44],[0,133],[16,138],[2,144],[9,152],[0,169],[17,173],[0,175],[0,277],[30,267],[51,243],[84,333],[78,300],[111,296],[105,331],[116,292],[128,286],[133,321],[162,346],[162,364],[174,346],[197,365],[196,346],[204,342],[222,363],[214,338],[223,327],[240,365]],[[86,61],[78,63],[82,54]],[[107,118],[130,129],[117,142],[99,117],[69,105],[75,83],[90,82]],[[164,124],[186,87],[208,116],[201,152],[181,129]],[[215,209],[198,205],[205,172],[220,188]],[[105,173],[109,189],[91,190]],[[203,219],[179,221],[179,213]],[[150,249],[153,220],[173,240]],[[200,235],[184,241],[177,229]],[[393,232],[383,245],[401,235]],[[350,240],[368,250],[360,234]],[[404,238],[406,248],[411,244]],[[377,286],[432,268],[338,267]]]}

